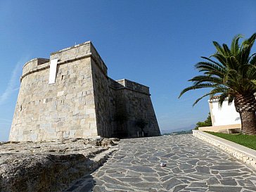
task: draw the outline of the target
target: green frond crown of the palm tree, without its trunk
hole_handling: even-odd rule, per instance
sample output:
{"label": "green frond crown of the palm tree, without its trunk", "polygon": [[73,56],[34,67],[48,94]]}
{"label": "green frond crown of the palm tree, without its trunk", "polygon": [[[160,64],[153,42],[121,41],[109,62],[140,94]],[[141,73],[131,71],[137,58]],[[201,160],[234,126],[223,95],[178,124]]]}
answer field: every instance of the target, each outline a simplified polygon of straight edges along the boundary
{"label": "green frond crown of the palm tree, without its trunk", "polygon": [[256,53],[252,53],[252,46],[256,40],[256,33],[239,44],[241,34],[233,37],[231,47],[226,44],[220,46],[213,41],[216,53],[209,58],[201,57],[201,61],[195,65],[196,70],[201,73],[188,81],[193,82],[179,97],[186,91],[192,89],[212,88],[207,94],[198,98],[193,105],[196,105],[205,96],[219,96],[219,105],[228,98],[230,104],[236,94],[252,94],[256,92]]}

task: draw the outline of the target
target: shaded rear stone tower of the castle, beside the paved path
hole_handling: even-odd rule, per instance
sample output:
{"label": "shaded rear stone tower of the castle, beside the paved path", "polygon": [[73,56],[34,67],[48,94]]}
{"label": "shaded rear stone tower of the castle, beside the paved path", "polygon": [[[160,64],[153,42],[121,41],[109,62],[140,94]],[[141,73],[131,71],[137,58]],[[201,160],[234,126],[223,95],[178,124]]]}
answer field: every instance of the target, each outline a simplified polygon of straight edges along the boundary
{"label": "shaded rear stone tower of the castle, beside the paved path", "polygon": [[[117,83],[116,83],[117,82]],[[142,136],[138,122],[145,122],[145,136],[159,136],[158,121],[149,94],[149,88],[127,79],[110,81],[112,95],[115,95],[114,126],[115,136]],[[112,102],[113,103],[113,102]]]}

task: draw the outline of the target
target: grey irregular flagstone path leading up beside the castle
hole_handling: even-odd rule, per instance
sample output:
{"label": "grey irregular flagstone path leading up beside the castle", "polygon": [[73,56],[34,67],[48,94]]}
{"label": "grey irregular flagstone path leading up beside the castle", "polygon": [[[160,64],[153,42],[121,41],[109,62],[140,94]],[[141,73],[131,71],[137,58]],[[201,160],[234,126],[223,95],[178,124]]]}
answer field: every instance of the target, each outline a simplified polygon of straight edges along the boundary
{"label": "grey irregular flagstone path leading up beside the castle", "polygon": [[[124,139],[68,191],[256,191],[256,172],[191,134]],[[166,167],[160,167],[165,162]],[[93,188],[91,190],[91,188]]]}

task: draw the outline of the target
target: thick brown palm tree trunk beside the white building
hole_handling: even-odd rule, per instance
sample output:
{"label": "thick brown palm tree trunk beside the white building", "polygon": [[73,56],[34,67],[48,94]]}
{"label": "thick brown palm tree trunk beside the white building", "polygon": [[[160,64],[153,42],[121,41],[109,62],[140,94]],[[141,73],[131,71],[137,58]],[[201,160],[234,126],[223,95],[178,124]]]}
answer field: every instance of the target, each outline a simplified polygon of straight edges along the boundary
{"label": "thick brown palm tree trunk beside the white building", "polygon": [[256,134],[256,116],[255,111],[241,111],[241,128],[243,134]]}

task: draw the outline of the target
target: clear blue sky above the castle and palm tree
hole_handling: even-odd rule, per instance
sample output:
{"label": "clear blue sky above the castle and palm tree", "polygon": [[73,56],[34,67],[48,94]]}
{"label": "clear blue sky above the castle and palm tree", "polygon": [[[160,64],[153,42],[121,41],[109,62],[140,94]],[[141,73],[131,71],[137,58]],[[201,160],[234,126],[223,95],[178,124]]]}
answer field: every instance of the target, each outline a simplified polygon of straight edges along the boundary
{"label": "clear blue sky above the castle and palm tree", "polygon": [[105,0],[0,1],[0,141],[8,139],[23,64],[53,51],[93,41],[113,79],[151,88],[160,129],[205,120],[205,93],[179,93],[198,75],[200,56],[212,41],[230,44],[235,34],[256,32],[256,1]]}

